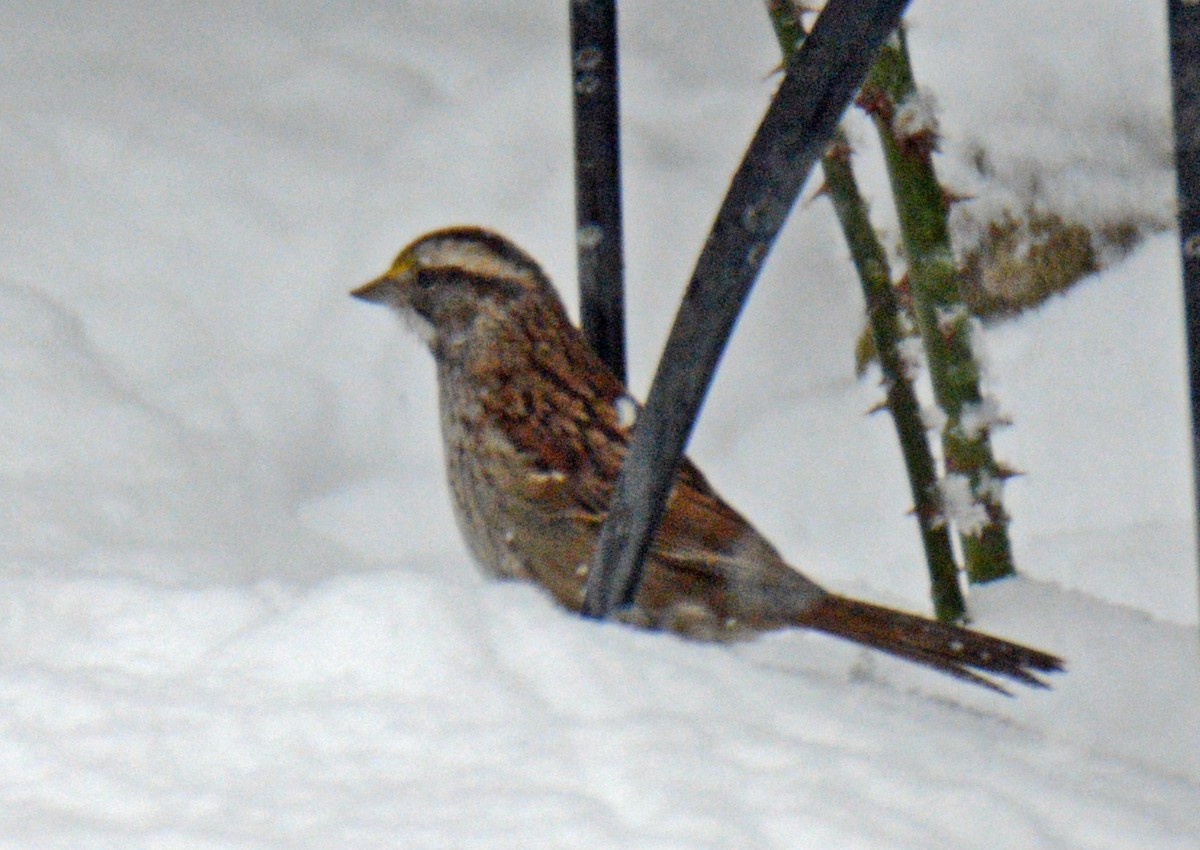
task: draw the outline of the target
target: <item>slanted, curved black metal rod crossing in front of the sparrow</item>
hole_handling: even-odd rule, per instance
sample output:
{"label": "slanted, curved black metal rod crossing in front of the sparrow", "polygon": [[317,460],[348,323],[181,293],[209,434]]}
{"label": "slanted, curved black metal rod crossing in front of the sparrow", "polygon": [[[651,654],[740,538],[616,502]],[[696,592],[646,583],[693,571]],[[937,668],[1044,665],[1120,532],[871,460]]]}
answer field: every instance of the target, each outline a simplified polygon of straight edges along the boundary
{"label": "slanted, curved black metal rod crossing in front of the sparrow", "polygon": [[834,127],[907,0],[830,0],[738,167],[634,426],[588,573],[583,613],[630,605],[684,445],[733,323]]}

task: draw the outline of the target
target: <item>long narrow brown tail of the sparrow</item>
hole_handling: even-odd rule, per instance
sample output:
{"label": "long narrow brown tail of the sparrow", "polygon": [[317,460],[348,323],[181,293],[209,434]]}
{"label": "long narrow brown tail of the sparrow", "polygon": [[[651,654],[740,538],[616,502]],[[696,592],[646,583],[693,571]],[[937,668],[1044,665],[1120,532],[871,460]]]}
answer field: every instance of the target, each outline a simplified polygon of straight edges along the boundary
{"label": "long narrow brown tail of the sparrow", "polygon": [[1012,694],[1006,688],[977,671],[1046,688],[1033,674],[1063,669],[1062,659],[1046,652],[835,594],[798,615],[796,624],[865,644],[1008,695]]}

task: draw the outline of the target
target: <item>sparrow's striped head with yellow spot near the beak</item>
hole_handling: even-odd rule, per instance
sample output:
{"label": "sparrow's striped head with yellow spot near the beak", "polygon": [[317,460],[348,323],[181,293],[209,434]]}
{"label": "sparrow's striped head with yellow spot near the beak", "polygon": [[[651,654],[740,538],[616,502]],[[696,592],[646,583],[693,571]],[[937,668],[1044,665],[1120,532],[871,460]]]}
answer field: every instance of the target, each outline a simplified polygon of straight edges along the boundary
{"label": "sparrow's striped head with yellow spot near the beak", "polygon": [[504,237],[476,227],[451,227],[416,239],[382,276],[354,289],[355,298],[392,307],[438,353],[485,325],[503,322],[524,298],[558,295],[538,263]]}

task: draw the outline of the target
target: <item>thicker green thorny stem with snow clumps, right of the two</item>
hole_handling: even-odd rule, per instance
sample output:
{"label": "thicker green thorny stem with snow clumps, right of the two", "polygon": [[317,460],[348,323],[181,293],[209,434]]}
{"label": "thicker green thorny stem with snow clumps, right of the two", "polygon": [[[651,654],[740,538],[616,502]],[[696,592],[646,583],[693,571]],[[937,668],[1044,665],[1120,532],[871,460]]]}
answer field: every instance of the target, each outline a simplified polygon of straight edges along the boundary
{"label": "thicker green thorny stem with snow clumps, right of the two", "polygon": [[[994,402],[979,390],[972,351],[974,323],[959,293],[950,249],[949,203],[934,172],[937,132],[917,95],[904,30],[880,50],[859,95],[878,130],[908,259],[912,309],[929,358],[934,397],[946,414],[942,454],[946,490],[966,485],[976,516],[959,521],[967,577],[972,582],[1013,575],[1008,514],[1001,501],[1004,473],[991,450]],[[960,505],[962,507],[962,505]]]}

